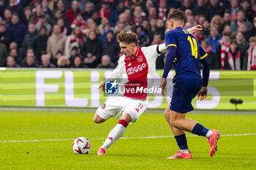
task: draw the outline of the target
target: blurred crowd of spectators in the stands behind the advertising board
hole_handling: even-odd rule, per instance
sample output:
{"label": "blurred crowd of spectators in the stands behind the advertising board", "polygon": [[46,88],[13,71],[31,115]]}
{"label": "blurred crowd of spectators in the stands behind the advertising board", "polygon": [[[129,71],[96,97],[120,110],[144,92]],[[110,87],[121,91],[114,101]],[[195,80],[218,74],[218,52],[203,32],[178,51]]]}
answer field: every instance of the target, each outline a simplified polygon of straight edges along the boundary
{"label": "blurred crowd of spectators in the stands behind the advertising board", "polygon": [[[211,69],[256,69],[255,0],[0,0],[0,66],[115,68],[116,34],[131,29],[140,47],[165,42],[167,13],[208,53]],[[163,69],[165,54],[157,58]]]}

